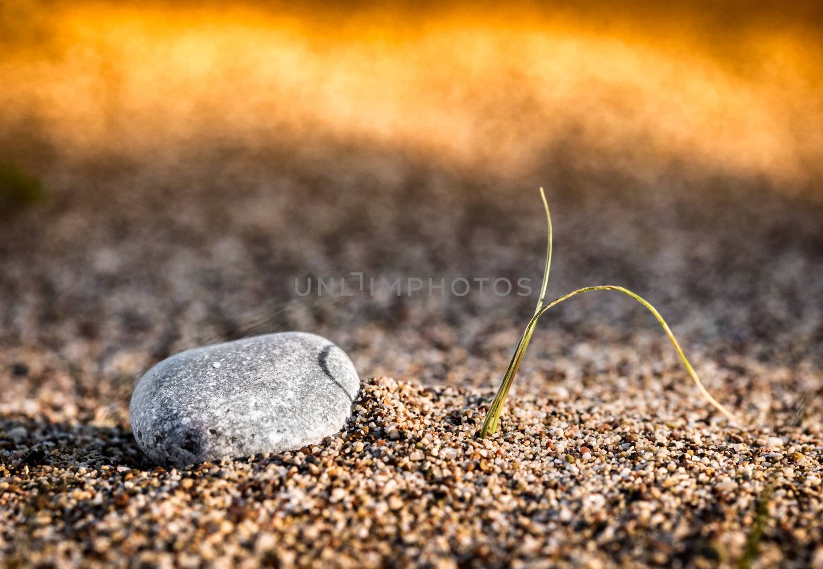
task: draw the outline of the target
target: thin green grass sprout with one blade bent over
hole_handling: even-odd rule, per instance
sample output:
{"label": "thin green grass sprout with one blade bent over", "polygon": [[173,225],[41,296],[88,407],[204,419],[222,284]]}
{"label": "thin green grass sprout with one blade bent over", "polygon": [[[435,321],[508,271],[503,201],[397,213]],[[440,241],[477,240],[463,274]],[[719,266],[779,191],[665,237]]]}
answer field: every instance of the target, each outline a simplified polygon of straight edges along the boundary
{"label": "thin green grass sprout with one blade bent over", "polygon": [[493,435],[497,430],[497,425],[500,423],[500,413],[503,411],[503,404],[506,400],[506,396],[509,395],[509,389],[511,389],[512,383],[514,383],[514,377],[517,375],[518,368],[520,367],[520,363],[523,362],[523,356],[526,354],[526,349],[528,348],[528,343],[532,340],[532,334],[534,333],[534,328],[537,326],[537,320],[542,317],[542,315],[551,307],[555,306],[556,304],[562,303],[567,298],[571,298],[576,294],[586,293],[590,290],[617,290],[623,294],[628,294],[631,298],[634,298],[637,302],[642,304],[644,307],[649,309],[655,318],[658,319],[660,322],[660,326],[663,326],[663,331],[666,332],[669,340],[672,340],[672,345],[677,350],[677,355],[680,356],[683,365],[686,367],[686,371],[689,372],[691,378],[695,381],[697,388],[700,390],[700,393],[704,396],[706,400],[709,401],[714,407],[716,407],[721,413],[723,413],[732,423],[737,423],[737,419],[733,414],[731,414],[728,409],[723,407],[718,400],[715,400],[714,397],[711,396],[709,391],[706,391],[706,388],[703,386],[703,383],[700,382],[700,377],[697,377],[697,372],[695,369],[691,367],[689,360],[686,359],[686,354],[683,354],[683,350],[681,349],[680,345],[677,343],[672,331],[669,329],[668,324],[663,317],[660,316],[660,312],[657,311],[651,304],[649,304],[644,298],[640,298],[639,295],[631,292],[629,289],[624,289],[621,286],[615,285],[599,285],[599,286],[587,286],[584,289],[577,289],[573,290],[569,294],[564,294],[558,298],[555,298],[550,303],[544,305],[544,301],[546,300],[546,285],[548,285],[549,280],[549,267],[551,266],[551,241],[552,241],[552,234],[551,234],[551,214],[549,213],[549,204],[546,201],[546,194],[543,192],[543,188],[540,188],[540,197],[543,201],[543,209],[546,210],[546,225],[548,227],[548,247],[546,248],[546,268],[543,271],[543,283],[540,289],[540,298],[537,300],[537,308],[534,310],[534,316],[528,322],[528,326],[526,326],[526,330],[523,331],[523,335],[520,336],[520,341],[518,342],[517,349],[514,350],[514,356],[512,357],[511,362],[509,363],[509,368],[506,369],[506,373],[503,376],[503,381],[500,382],[500,387],[497,390],[497,395],[495,395],[495,399],[491,402],[491,407],[489,408],[489,413],[486,415],[486,421],[483,423],[483,428],[481,430],[481,437],[487,437],[489,435]]}

